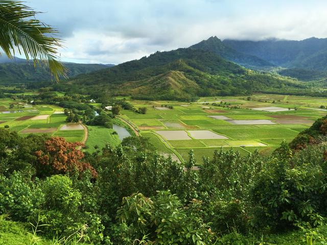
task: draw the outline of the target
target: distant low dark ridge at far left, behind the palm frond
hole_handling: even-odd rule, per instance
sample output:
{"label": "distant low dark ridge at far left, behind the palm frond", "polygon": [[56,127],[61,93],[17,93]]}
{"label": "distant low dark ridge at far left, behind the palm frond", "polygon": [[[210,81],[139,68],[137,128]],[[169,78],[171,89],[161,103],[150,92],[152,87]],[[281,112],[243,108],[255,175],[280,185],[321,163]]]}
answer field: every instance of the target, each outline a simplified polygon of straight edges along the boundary
{"label": "distant low dark ridge at far left, behind the palm frond", "polygon": [[[7,62],[9,60],[9,62]],[[78,64],[63,62],[68,68],[68,77],[79,74],[112,67],[112,64]],[[10,60],[4,56],[0,57],[0,83],[26,83],[51,80],[51,75],[42,67],[34,67],[33,61],[15,58]]]}

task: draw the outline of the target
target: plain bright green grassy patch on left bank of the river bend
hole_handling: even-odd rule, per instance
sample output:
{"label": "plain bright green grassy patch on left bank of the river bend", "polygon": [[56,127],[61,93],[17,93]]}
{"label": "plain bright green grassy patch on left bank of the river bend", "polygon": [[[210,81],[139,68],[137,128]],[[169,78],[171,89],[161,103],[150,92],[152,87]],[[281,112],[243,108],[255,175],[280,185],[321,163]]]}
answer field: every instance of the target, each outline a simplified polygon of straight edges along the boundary
{"label": "plain bright green grassy patch on left bank of the river bend", "polygon": [[95,146],[99,146],[101,150],[108,143],[110,146],[114,147],[121,143],[118,135],[112,134],[113,129],[108,129],[101,126],[87,126],[88,137],[85,145],[88,147],[85,149],[87,152],[94,152]]}

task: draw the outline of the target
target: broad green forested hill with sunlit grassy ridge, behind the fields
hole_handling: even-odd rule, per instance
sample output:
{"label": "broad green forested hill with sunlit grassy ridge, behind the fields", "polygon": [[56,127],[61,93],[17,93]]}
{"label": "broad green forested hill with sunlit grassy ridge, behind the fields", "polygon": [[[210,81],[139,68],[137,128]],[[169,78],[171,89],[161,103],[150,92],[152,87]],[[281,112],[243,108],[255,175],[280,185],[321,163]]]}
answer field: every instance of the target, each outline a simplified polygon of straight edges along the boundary
{"label": "broad green forested hill with sunlit grassy ridge, behind the fields", "polygon": [[299,91],[306,86],[278,75],[248,70],[215,53],[194,48],[156,52],[66,82],[79,91],[102,91],[147,100]]}

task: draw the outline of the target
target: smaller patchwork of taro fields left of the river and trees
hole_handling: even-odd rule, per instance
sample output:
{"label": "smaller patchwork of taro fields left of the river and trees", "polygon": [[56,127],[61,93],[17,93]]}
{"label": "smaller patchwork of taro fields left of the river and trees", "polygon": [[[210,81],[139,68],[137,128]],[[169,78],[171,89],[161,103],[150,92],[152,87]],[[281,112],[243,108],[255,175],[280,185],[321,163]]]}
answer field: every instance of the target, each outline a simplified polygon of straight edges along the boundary
{"label": "smaller patchwork of taro fields left of the river and trees", "polygon": [[0,128],[9,128],[22,135],[47,134],[64,137],[69,142],[83,141],[82,125],[67,124],[65,119],[61,107],[0,100]]}

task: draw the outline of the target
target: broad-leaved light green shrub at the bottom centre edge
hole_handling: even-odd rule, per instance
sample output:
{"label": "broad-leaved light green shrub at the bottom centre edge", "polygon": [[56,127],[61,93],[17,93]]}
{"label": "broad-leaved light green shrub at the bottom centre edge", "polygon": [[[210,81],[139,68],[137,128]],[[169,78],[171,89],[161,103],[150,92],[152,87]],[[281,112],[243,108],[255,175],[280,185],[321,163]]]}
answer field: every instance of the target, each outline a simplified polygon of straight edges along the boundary
{"label": "broad-leaved light green shrub at the bottom centre edge", "polygon": [[208,244],[211,234],[201,217],[201,202],[183,207],[176,195],[159,191],[152,199],[141,193],[124,198],[118,218],[129,227],[128,236],[149,239],[157,244]]}

